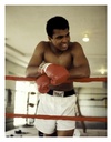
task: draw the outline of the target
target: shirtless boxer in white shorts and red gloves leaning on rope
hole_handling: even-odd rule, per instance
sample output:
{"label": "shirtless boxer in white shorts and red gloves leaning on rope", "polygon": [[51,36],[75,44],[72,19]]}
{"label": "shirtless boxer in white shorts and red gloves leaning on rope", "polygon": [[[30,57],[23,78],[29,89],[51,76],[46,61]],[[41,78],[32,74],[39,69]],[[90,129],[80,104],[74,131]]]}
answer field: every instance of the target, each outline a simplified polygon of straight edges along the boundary
{"label": "shirtless boxer in white shorts and red gloves leaning on rope", "polygon": [[[88,60],[78,42],[70,42],[69,23],[62,17],[51,18],[46,26],[49,41],[41,41],[27,68],[27,77],[37,78],[41,92],[37,114],[74,116],[77,101],[75,78],[90,75]],[[57,131],[58,136],[72,136],[75,121],[36,120],[36,126],[46,136]]]}

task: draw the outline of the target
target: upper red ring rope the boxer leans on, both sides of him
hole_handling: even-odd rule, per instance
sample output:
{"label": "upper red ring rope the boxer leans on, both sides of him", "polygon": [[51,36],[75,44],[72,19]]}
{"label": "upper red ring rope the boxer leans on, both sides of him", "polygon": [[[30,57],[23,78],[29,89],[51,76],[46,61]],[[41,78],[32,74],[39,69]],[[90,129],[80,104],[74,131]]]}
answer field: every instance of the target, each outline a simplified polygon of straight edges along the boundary
{"label": "upper red ring rope the boxer leans on, both sides of him", "polygon": [[[6,75],[6,80],[14,80],[14,81],[36,81],[37,78],[24,78],[24,77],[12,77],[12,75]],[[107,82],[107,78],[81,78],[81,79],[72,79],[70,81],[67,81],[68,83],[69,82],[93,82],[93,81],[97,81],[97,82]]]}

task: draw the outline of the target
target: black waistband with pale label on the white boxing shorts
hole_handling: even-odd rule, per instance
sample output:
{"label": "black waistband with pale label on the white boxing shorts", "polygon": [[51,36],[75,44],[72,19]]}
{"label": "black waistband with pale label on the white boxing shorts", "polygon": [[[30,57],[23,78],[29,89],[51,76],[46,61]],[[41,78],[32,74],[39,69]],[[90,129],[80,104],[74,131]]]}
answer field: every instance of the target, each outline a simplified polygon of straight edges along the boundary
{"label": "black waistband with pale label on the white boxing shorts", "polygon": [[75,94],[75,91],[74,90],[70,90],[70,91],[49,90],[49,92],[47,93],[53,97],[70,97],[70,95]]}

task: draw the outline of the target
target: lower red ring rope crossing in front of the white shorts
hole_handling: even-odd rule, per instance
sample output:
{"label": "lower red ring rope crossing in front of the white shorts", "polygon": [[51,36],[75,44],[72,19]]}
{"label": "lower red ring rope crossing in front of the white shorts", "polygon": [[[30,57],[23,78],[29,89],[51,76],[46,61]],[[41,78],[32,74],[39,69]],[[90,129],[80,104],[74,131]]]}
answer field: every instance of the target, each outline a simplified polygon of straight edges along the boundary
{"label": "lower red ring rope crossing in front of the white shorts", "polygon": [[33,115],[33,114],[13,114],[6,113],[6,118],[33,118],[33,119],[44,119],[44,120],[70,120],[70,121],[99,121],[107,122],[107,118],[98,116],[60,116],[60,115]]}

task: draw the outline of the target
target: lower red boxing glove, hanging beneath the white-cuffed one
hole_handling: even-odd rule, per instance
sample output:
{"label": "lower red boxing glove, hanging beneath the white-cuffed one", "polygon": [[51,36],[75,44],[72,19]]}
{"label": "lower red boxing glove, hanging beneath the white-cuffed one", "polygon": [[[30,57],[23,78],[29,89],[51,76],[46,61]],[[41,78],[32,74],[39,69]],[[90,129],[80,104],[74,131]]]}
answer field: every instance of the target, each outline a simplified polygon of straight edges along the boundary
{"label": "lower red boxing glove, hanging beneath the white-cuffed one", "polygon": [[40,93],[47,93],[50,90],[49,89],[50,79],[46,74],[42,74],[41,77],[39,77],[36,83],[38,87],[38,91]]}

